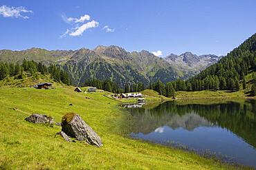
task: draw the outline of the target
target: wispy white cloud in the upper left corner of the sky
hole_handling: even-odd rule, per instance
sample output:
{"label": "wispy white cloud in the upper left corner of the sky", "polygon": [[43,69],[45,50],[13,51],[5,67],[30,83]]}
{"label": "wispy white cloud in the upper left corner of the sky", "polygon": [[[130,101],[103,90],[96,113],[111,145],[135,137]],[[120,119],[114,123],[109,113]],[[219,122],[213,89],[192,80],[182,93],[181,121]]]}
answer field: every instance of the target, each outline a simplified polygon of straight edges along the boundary
{"label": "wispy white cloud in the upper left corner of the sky", "polygon": [[28,16],[22,15],[21,13],[33,13],[32,10],[26,10],[24,7],[14,7],[14,6],[0,6],[0,15],[3,17],[15,17],[29,19]]}

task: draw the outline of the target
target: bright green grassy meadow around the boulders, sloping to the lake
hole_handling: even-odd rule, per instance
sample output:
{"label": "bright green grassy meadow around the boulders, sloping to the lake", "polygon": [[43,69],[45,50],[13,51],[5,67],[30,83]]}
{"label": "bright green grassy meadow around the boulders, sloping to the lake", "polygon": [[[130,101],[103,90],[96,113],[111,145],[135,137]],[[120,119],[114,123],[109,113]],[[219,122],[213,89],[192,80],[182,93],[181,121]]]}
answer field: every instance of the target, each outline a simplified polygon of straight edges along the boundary
{"label": "bright green grassy meadow around the boulders, sloping to the lake", "polygon": [[[232,169],[194,153],[125,137],[131,117],[117,105],[102,93],[75,93],[73,87],[0,88],[0,169]],[[24,120],[36,112],[60,122],[68,111],[80,114],[104,146],[68,143],[55,136],[61,127]]]}

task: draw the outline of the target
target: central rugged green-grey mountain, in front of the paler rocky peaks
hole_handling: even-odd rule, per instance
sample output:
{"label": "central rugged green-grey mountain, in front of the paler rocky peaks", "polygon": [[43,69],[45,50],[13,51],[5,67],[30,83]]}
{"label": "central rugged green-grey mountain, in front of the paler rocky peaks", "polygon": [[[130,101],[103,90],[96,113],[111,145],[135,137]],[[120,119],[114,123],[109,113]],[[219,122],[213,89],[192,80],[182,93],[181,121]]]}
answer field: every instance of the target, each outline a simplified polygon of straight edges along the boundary
{"label": "central rugged green-grey mountain, in front of the paler rocky peaks", "polygon": [[170,64],[154,54],[141,52],[126,52],[117,46],[98,46],[94,50],[80,50],[64,64],[64,69],[76,83],[83,83],[86,78],[111,78],[119,85],[125,83],[143,82],[161,79],[163,82],[173,81],[178,77]]}

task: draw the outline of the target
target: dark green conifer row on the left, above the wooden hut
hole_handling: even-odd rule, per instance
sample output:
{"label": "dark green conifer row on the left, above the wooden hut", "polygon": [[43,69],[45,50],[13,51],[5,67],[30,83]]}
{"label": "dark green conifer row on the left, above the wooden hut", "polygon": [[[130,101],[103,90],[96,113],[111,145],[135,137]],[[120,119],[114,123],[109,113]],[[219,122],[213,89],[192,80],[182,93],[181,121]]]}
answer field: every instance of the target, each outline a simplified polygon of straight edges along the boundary
{"label": "dark green conifer row on the left, above the wooden hut", "polygon": [[51,64],[46,66],[43,63],[35,61],[27,61],[24,59],[21,65],[19,63],[0,63],[0,80],[7,76],[15,76],[15,78],[22,79],[27,72],[33,78],[38,79],[38,72],[41,74],[51,74],[53,80],[71,85],[71,78],[62,70],[61,67]]}

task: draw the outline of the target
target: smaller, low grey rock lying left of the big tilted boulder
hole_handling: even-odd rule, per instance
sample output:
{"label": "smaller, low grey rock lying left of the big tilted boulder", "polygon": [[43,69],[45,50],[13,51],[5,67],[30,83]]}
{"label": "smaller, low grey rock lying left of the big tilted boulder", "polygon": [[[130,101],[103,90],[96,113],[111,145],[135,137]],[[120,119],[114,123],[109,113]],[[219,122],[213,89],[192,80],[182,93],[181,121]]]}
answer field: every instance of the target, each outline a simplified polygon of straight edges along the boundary
{"label": "smaller, low grey rock lying left of the big tilted boulder", "polygon": [[25,120],[30,123],[46,123],[53,126],[53,117],[44,114],[31,114]]}

